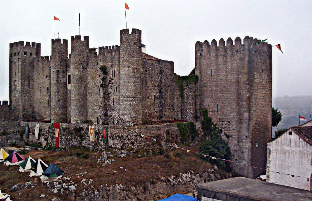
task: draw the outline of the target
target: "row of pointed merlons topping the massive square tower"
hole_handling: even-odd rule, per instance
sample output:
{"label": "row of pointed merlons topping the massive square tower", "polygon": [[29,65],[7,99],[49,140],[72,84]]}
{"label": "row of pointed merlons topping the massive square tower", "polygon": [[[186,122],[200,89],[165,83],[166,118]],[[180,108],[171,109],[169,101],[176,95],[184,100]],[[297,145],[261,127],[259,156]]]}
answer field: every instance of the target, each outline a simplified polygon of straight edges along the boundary
{"label": "row of pointed merlons topping the massive square tower", "polygon": [[[242,44],[241,38],[236,37],[234,40],[234,46],[242,46],[242,45],[259,46],[259,47],[271,46],[271,44],[267,42],[260,42],[260,41],[261,40],[258,40],[257,38],[246,36],[244,38],[244,44]],[[256,44],[256,42],[260,42],[260,43]],[[225,45],[225,41],[223,38],[221,38],[219,42],[217,42],[216,39],[213,39],[211,41],[211,44],[209,44],[207,40],[205,40],[204,42],[197,41],[195,43],[195,49],[197,50],[202,50],[203,48],[210,48],[210,47],[231,47],[231,46],[233,46],[233,40],[230,37],[227,39],[226,45]]]}

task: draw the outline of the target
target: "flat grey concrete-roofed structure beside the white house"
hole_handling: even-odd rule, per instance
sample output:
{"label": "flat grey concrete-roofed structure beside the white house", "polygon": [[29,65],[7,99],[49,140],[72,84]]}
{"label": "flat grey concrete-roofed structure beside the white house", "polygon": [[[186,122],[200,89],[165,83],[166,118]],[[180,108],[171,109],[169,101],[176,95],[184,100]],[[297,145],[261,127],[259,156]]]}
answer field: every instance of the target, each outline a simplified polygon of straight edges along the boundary
{"label": "flat grey concrete-roofed structure beside the white house", "polygon": [[202,183],[197,189],[199,200],[312,200],[310,191],[245,177]]}

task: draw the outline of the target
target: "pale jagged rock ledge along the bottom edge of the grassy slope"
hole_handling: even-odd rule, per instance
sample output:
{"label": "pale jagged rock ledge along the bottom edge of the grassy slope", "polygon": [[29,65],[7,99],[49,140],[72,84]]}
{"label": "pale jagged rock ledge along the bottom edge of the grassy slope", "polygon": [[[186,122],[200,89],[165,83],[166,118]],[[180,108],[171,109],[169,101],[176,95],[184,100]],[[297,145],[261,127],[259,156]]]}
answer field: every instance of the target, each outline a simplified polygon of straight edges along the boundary
{"label": "pale jagged rock ledge along the bottom edge of the grassy slope", "polygon": [[219,180],[220,175],[215,169],[208,172],[193,174],[190,171],[178,177],[161,178],[156,184],[146,183],[143,186],[123,186],[103,184],[99,188],[88,187],[78,195],[82,200],[155,200],[174,192],[192,192],[199,183]]}

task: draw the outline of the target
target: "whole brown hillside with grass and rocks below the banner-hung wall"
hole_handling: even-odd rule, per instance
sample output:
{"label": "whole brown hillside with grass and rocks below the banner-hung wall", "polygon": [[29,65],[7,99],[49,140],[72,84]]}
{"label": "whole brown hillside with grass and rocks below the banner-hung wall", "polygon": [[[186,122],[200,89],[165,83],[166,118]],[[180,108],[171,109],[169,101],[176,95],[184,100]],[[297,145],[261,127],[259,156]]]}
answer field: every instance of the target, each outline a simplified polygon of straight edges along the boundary
{"label": "whole brown hillside with grass and rocks below the banner-hung wall", "polygon": [[[126,156],[116,154],[114,150],[89,152],[77,148],[71,149],[71,153],[72,156],[65,151],[23,154],[34,159],[40,157],[46,164],[54,163],[65,171],[61,179],[49,184],[41,183],[39,177],[27,177],[27,172],[18,172],[18,166],[0,164],[2,192],[9,194],[12,200],[40,200],[41,194],[45,195],[45,200],[156,200],[178,192],[192,192],[200,181],[230,176],[198,155],[181,150],[148,156]],[[115,162],[102,165],[112,159]]]}

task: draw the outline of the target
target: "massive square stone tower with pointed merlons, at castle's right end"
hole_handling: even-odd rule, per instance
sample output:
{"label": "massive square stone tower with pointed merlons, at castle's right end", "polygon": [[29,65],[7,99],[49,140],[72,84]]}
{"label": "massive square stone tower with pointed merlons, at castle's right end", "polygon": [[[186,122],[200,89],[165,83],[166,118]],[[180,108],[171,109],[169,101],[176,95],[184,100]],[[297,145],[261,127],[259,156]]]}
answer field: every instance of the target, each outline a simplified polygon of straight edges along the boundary
{"label": "massive square stone tower with pointed merlons, at castle's right end", "polygon": [[[265,168],[266,142],[271,139],[272,47],[245,37],[197,42],[195,74],[197,113],[206,108],[208,115],[222,128],[229,143],[232,160]],[[270,119],[270,120],[269,120]],[[256,142],[259,147],[256,147]],[[256,148],[255,148],[256,147]],[[246,177],[260,172],[240,166],[234,171]]]}

